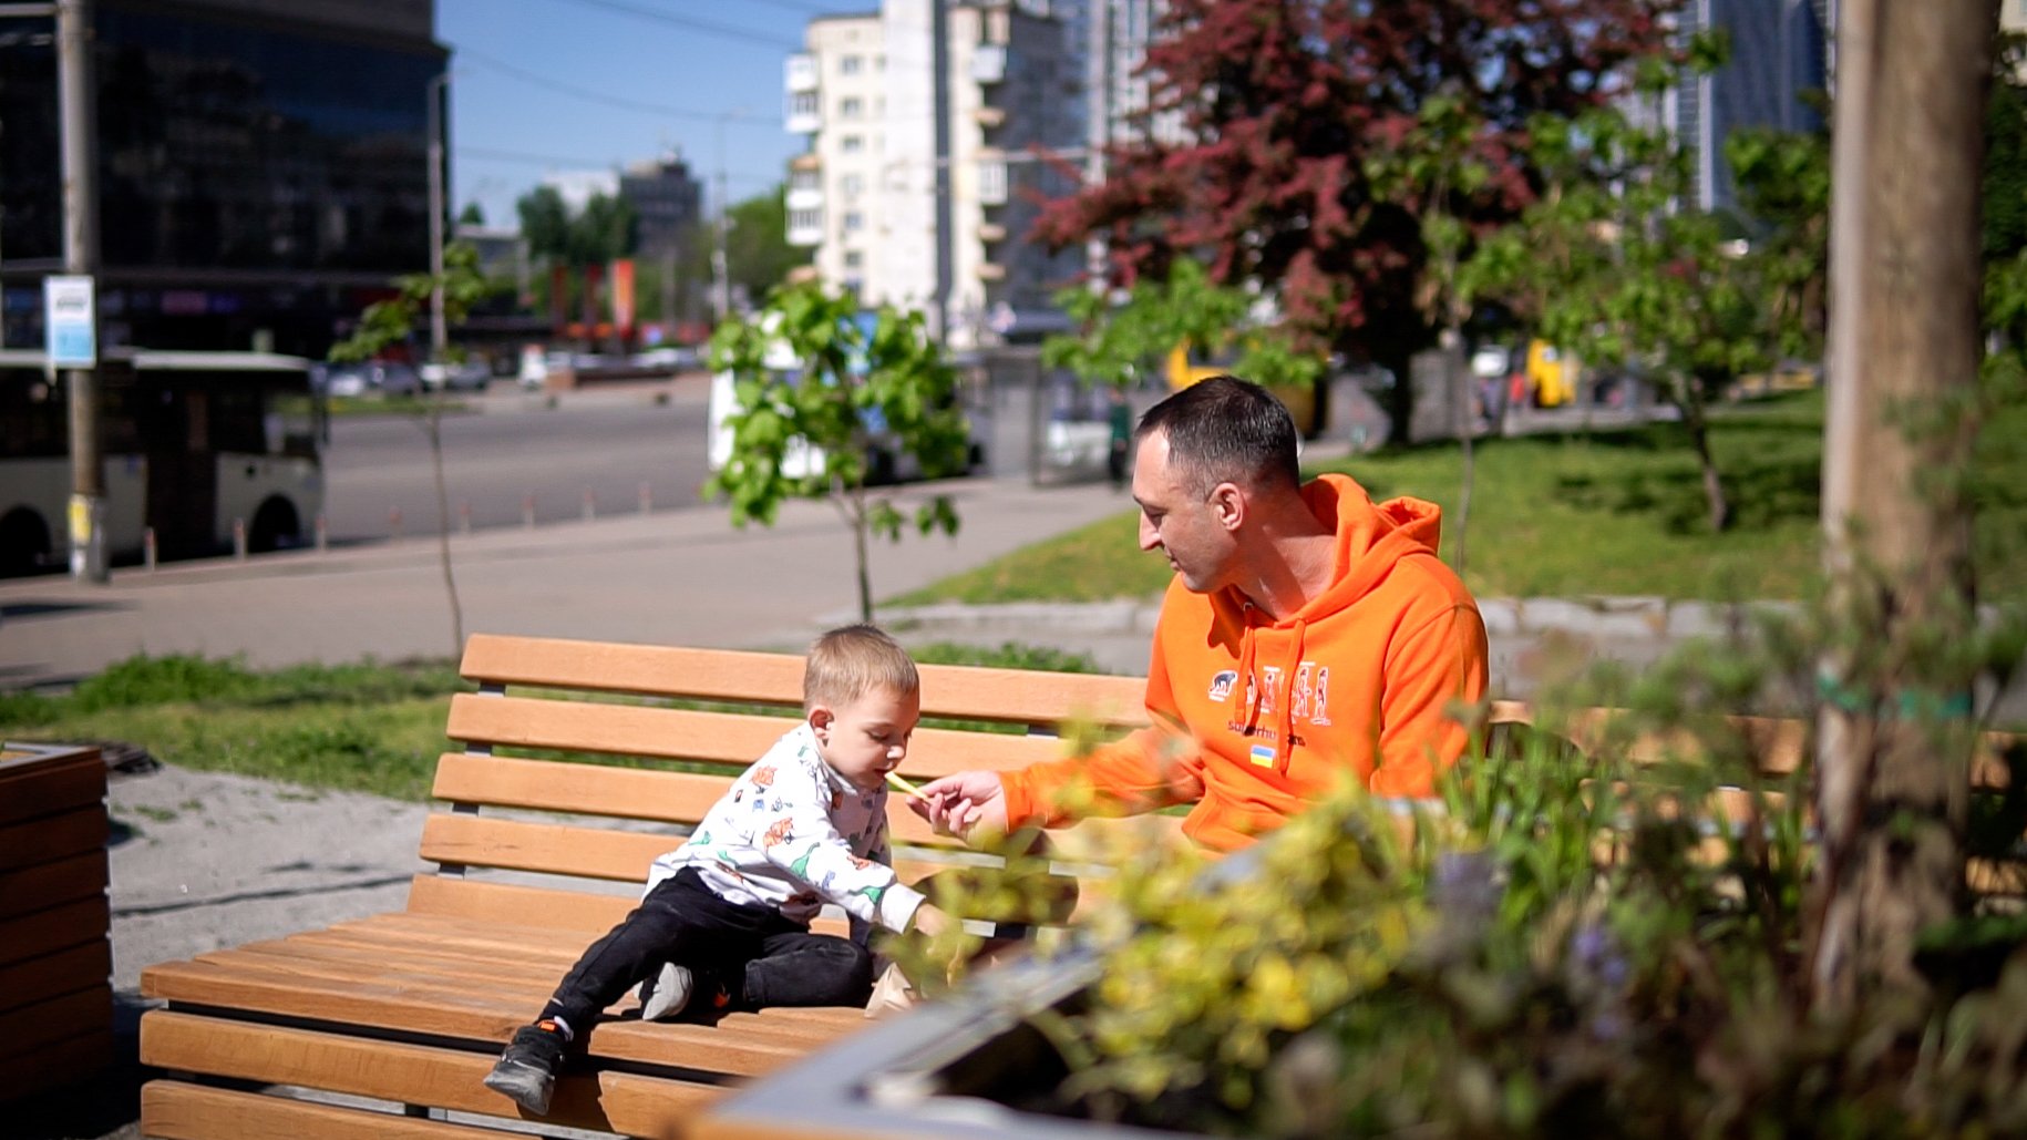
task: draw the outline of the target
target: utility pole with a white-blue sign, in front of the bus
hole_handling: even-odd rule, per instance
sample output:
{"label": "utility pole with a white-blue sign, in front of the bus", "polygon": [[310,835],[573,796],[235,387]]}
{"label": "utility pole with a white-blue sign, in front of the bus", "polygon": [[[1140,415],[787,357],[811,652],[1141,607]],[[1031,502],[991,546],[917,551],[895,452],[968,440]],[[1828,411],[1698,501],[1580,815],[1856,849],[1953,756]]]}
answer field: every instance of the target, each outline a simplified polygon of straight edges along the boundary
{"label": "utility pole with a white-blue sign, in front of the bus", "polygon": [[[91,75],[91,0],[57,0],[57,114],[63,120],[63,270],[99,272],[97,105]],[[97,304],[91,306],[97,345]],[[63,373],[71,410],[71,578],[105,582],[105,462],[97,369]]]}

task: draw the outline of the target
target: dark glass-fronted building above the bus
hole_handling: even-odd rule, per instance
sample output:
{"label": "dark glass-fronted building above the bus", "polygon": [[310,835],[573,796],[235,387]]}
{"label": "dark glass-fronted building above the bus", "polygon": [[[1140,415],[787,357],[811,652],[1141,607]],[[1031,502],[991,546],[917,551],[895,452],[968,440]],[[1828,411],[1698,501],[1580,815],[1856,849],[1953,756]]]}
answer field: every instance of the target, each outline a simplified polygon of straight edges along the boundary
{"label": "dark glass-fronted building above the bus", "polygon": [[[41,343],[41,280],[63,266],[49,32],[0,18],[10,345]],[[446,55],[434,0],[97,0],[101,341],[322,355],[426,270]]]}

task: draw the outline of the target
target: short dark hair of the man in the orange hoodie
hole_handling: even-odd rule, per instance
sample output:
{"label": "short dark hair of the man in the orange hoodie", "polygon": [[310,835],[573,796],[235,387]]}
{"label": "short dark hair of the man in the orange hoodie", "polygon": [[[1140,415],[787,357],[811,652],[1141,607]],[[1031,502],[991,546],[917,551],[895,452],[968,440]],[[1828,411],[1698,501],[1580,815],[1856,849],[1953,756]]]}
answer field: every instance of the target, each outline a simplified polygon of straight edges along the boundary
{"label": "short dark hair of the man in the orange hoodie", "polygon": [[1141,416],[1135,444],[1161,432],[1168,462],[1196,495],[1218,483],[1301,487],[1295,418],[1265,387],[1214,375],[1155,404]]}

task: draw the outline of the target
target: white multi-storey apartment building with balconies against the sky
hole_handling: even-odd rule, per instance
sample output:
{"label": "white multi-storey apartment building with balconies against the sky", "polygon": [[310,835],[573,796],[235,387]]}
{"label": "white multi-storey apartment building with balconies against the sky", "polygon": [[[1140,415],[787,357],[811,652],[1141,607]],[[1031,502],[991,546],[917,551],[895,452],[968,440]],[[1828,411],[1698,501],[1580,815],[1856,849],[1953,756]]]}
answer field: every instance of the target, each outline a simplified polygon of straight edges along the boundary
{"label": "white multi-storey apartment building with balconies against the sky", "polygon": [[[809,22],[786,63],[789,241],[868,306],[922,308],[965,349],[1054,314],[1082,264],[1028,241],[1082,164],[1084,55],[1042,2],[886,0]],[[1060,156],[1068,168],[1044,160]]]}

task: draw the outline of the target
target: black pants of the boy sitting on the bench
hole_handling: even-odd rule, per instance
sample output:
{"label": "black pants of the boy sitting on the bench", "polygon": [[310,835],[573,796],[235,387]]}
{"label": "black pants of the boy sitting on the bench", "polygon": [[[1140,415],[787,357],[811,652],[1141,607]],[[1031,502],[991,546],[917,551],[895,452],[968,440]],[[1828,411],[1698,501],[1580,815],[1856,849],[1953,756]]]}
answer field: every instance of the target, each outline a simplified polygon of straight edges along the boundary
{"label": "black pants of the boy sitting on the bench", "polygon": [[598,1014],[643,978],[675,961],[726,982],[734,1010],[760,1006],[864,1006],[874,961],[851,939],[809,933],[778,911],[728,903],[685,866],[594,941],[570,968],[541,1016],[588,1032]]}

